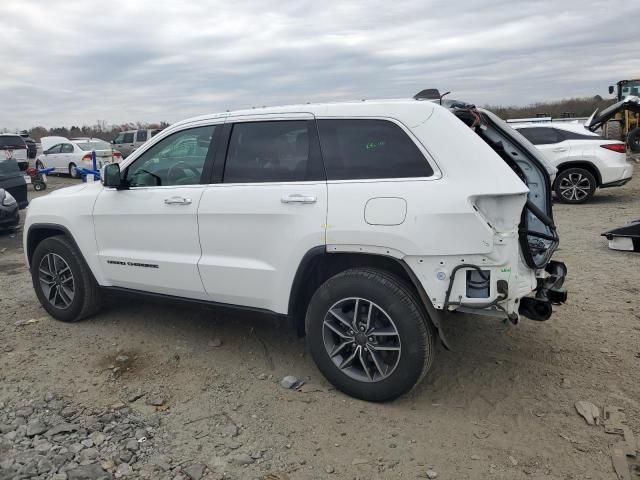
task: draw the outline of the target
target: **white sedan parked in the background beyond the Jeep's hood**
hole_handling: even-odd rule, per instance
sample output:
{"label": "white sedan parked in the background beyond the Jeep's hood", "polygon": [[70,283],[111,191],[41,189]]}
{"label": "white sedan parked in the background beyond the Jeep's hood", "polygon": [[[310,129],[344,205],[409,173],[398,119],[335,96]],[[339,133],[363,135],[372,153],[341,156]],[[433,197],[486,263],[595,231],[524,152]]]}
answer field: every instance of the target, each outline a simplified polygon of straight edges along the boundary
{"label": "white sedan parked in the background beyond the Jeep's hood", "polygon": [[42,137],[42,153],[36,158],[36,168],[55,168],[56,173],[68,173],[80,178],[80,168],[93,169],[92,152],[96,152],[96,167],[120,162],[122,154],[99,138]]}

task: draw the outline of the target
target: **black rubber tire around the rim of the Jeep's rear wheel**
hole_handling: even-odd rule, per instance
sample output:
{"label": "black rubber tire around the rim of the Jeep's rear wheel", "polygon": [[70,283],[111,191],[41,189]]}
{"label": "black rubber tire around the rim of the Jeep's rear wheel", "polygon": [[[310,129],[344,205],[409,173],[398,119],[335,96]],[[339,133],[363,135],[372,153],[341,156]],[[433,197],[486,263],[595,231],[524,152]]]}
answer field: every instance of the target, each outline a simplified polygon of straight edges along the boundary
{"label": "black rubber tire around the rim of the Jeep's rear wheel", "polygon": [[[382,352],[385,354],[384,359],[390,359],[391,363],[395,362],[393,368],[382,369],[388,372],[387,376],[382,375],[382,370],[376,370],[373,352],[369,350],[372,347],[368,342],[360,346],[365,363],[370,366],[369,371],[373,371],[373,376],[367,373],[368,380],[364,374],[362,379],[354,378],[358,373],[357,365],[362,366],[361,361],[345,369],[341,369],[334,363],[344,362],[350,357],[357,348],[355,342],[342,350],[344,356],[342,353],[334,355],[334,359],[330,356],[327,338],[330,339],[335,335],[333,333],[335,330],[327,329],[325,317],[333,319],[329,310],[336,305],[342,305],[341,302],[353,301],[354,298],[363,302],[364,310],[367,310],[366,302],[375,305],[379,309],[378,318],[385,321],[392,319],[396,331],[392,341],[397,342],[401,349],[398,352]],[[352,312],[353,310],[345,315],[353,315]],[[366,317],[364,311],[362,315]],[[384,315],[387,315],[386,318]],[[327,280],[311,298],[306,315],[306,329],[309,350],[320,371],[336,388],[362,400],[383,402],[407,393],[422,380],[431,367],[435,355],[434,328],[419,301],[400,278],[381,270],[355,268]],[[356,337],[359,336],[359,332],[354,330]],[[363,335],[367,337],[366,333]],[[372,334],[369,340],[373,336]],[[378,339],[387,341],[385,338],[390,337],[376,336],[374,345],[377,344]],[[378,351],[376,348],[374,350]],[[335,345],[333,351],[335,351]],[[386,363],[384,365],[390,367]],[[347,370],[353,370],[353,372],[347,373]],[[361,370],[364,372],[366,369]],[[376,375],[378,375],[377,379]]]}

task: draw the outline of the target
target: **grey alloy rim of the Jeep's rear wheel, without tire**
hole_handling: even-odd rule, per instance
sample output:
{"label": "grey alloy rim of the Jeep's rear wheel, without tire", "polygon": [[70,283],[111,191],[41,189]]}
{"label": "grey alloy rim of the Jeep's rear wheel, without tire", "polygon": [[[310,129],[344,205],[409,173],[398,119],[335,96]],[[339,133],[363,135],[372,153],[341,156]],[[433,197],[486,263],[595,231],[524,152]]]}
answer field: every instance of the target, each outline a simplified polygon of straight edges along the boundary
{"label": "grey alloy rim of the Jeep's rear wheel, without tire", "polygon": [[324,317],[322,335],[331,361],[355,380],[379,382],[398,366],[402,352],[398,329],[370,300],[351,297],[336,302]]}

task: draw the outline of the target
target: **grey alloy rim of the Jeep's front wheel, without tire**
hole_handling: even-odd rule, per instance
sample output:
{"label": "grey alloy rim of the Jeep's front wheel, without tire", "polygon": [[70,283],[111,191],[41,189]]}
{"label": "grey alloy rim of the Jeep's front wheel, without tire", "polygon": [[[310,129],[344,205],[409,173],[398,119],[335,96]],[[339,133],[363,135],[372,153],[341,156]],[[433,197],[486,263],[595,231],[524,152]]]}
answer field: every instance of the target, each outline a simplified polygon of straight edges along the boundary
{"label": "grey alloy rim of the Jeep's front wheel, without tire", "polygon": [[56,308],[69,308],[75,296],[75,282],[69,264],[56,253],[48,253],[38,266],[42,293]]}

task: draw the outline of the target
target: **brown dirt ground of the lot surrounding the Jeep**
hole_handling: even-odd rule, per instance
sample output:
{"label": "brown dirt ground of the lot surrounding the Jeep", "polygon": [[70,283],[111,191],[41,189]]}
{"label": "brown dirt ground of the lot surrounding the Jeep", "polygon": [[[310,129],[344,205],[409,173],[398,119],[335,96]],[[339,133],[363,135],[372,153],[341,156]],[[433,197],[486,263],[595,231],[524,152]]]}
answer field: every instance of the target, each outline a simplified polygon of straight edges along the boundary
{"label": "brown dirt ground of the lot surrounding the Jeep", "polygon": [[[56,322],[33,293],[21,232],[0,234],[0,423],[20,407],[54,409],[47,392],[87,431],[96,416],[151,419],[148,454],[97,452],[112,472],[132,464],[116,477],[200,478],[204,467],[190,467],[202,464],[203,478],[615,479],[609,445],[621,437],[574,404],[622,407],[640,437],[640,255],[600,237],[640,218],[638,177],[555,206],[569,300],[550,321],[452,317],[454,350],[439,348],[421,385],[381,405],[333,390],[304,340],[270,319],[114,297],[93,319]],[[307,383],[286,390],[285,375]],[[149,466],[159,453],[165,464]]]}

